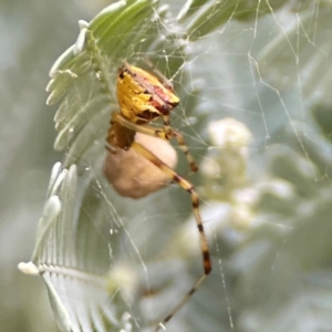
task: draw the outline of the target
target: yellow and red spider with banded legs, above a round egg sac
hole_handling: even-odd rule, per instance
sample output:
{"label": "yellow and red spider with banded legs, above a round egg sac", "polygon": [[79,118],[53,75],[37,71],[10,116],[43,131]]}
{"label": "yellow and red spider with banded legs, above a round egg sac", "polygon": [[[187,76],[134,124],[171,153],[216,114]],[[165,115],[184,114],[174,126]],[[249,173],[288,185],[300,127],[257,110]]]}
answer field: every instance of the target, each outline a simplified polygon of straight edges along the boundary
{"label": "yellow and red spider with banded legs, above a round egg sac", "polygon": [[[138,143],[135,139],[136,133],[158,137],[165,141],[176,138],[188,160],[191,172],[197,172],[198,168],[185,144],[183,135],[170,127],[169,113],[179,103],[179,98],[175,94],[170,83],[162,82],[143,69],[124,63],[118,70],[117,100],[120,112],[112,113],[111,127],[106,138],[106,149],[111,154],[116,154],[116,151],[118,149],[124,152],[134,149],[138,155],[143,156],[166,174],[169,180],[173,179],[181,188],[188,191],[199,231],[204,273],[181,301],[179,301],[170,313],[155,328],[154,331],[158,331],[200,287],[201,282],[211,271],[211,261],[199,212],[199,197],[195,187],[178,175],[172,167],[167,166],[157,154],[152,153],[143,144]],[[158,118],[163,118],[164,127],[148,125],[152,121]]]}

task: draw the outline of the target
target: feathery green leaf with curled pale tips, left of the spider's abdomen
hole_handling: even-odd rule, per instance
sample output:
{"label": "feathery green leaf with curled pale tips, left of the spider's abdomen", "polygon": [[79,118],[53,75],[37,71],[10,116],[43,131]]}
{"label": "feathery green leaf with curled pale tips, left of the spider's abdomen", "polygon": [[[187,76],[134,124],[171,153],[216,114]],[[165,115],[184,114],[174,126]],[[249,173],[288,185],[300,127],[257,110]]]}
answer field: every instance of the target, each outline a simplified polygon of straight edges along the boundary
{"label": "feathery green leaf with curled pale tips, left of the spider's abdomen", "polygon": [[[89,147],[94,147],[94,142],[105,137],[108,124],[104,118],[110,116],[115,102],[111,86],[116,69],[124,56],[125,45],[137,43],[137,39],[143,38],[144,21],[152,10],[149,1],[111,4],[90,23],[80,23],[76,44],[65,51],[51,69],[48,104],[62,100],[55,115],[60,132],[55,149],[64,149],[79,135],[65,165],[76,163]],[[131,33],[133,30],[137,33]],[[92,125],[94,121],[96,126]],[[80,136],[81,131],[83,136]],[[103,145],[95,148],[101,154]]]}

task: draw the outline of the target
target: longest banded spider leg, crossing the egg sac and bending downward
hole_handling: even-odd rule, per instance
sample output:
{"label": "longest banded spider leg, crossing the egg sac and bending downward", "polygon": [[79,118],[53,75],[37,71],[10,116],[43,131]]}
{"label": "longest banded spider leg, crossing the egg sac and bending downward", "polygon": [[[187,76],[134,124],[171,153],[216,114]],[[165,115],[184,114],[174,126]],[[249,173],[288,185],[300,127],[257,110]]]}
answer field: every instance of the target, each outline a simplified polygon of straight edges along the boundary
{"label": "longest banded spider leg, crossing the egg sac and bending downward", "polygon": [[170,178],[173,178],[180,187],[183,187],[186,191],[190,194],[191,198],[191,205],[194,209],[194,215],[197,224],[197,228],[199,231],[199,239],[200,239],[200,250],[203,255],[203,266],[204,266],[204,274],[196,281],[191,290],[183,298],[183,300],[172,310],[172,312],[163,320],[162,323],[159,323],[155,331],[158,331],[165,323],[167,323],[174,314],[190,299],[190,297],[196,292],[196,290],[199,288],[201,282],[207,278],[207,276],[211,271],[211,261],[210,261],[210,253],[208,248],[207,238],[204,231],[200,212],[199,212],[199,198],[196,193],[195,187],[185,178],[180,177],[174,169],[168,167],[166,164],[164,164],[156,155],[154,155],[152,152],[149,152],[147,148],[145,148],[143,145],[141,145],[137,142],[134,142],[132,145],[132,148],[134,148],[137,153],[139,153],[142,156],[144,156],[146,159],[148,159],[151,163],[153,163],[155,166],[157,166],[159,169],[165,172]]}

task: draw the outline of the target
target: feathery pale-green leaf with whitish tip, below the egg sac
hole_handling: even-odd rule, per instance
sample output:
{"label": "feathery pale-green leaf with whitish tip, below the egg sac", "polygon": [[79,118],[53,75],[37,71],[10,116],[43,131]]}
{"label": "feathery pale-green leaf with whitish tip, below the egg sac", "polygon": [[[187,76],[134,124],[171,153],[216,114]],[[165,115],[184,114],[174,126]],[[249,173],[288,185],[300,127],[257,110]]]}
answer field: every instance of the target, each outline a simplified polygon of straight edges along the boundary
{"label": "feathery pale-green leaf with whitish tip, below the egg sac", "polygon": [[89,187],[77,195],[75,166],[60,167],[53,167],[31,262],[20,268],[42,277],[61,331],[118,331],[106,287],[108,226],[98,218],[100,200]]}

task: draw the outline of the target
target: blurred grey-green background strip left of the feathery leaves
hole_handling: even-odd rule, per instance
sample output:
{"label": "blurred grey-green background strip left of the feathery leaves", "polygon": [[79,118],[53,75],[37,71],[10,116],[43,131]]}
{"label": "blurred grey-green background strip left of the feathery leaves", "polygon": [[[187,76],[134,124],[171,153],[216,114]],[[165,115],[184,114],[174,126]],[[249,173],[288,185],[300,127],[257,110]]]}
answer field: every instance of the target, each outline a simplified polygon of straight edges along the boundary
{"label": "blurred grey-green background strip left of the feathery leaves", "polygon": [[29,261],[53,164],[55,107],[45,105],[49,70],[106,1],[1,1],[0,4],[0,325],[1,331],[56,331],[42,280]]}

